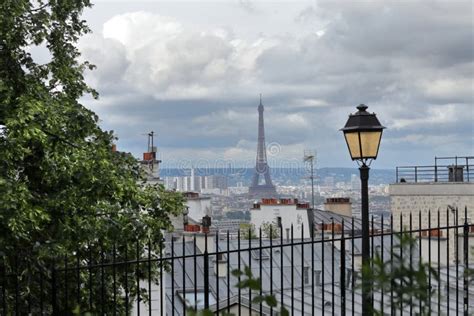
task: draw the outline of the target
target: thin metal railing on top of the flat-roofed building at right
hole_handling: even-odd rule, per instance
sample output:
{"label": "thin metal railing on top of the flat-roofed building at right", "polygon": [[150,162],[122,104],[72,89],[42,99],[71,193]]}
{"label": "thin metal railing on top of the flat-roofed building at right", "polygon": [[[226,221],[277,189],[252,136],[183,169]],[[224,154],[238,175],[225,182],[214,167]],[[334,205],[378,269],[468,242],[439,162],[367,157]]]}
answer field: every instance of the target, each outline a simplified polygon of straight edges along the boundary
{"label": "thin metal railing on top of the flat-roofed building at right", "polygon": [[435,157],[434,165],[396,167],[396,181],[471,182],[474,181],[474,156]]}

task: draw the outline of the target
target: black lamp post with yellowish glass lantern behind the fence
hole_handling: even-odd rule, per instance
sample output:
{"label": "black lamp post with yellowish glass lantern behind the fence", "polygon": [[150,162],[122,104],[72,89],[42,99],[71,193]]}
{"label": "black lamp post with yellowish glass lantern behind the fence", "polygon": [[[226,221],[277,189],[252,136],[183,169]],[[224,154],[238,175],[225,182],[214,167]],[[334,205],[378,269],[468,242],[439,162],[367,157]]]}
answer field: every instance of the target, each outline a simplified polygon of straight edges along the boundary
{"label": "black lamp post with yellowish glass lantern behind the fence", "polygon": [[350,114],[344,133],[347,147],[352,160],[359,164],[361,181],[361,213],[362,213],[362,315],[372,315],[373,301],[371,284],[367,268],[370,258],[369,240],[369,165],[377,159],[383,127],[375,113],[367,112],[367,106],[360,104],[355,114]]}

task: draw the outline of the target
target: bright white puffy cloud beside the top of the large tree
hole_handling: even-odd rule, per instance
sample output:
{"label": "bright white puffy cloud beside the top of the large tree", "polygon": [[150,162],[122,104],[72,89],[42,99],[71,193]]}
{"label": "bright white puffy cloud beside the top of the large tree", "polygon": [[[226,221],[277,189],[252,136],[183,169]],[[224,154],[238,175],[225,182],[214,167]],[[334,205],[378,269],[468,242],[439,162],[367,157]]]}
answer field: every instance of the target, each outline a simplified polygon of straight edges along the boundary
{"label": "bright white puffy cloud beside the top of the large tree", "polygon": [[[241,94],[243,86],[255,83],[256,59],[275,45],[263,38],[234,38],[223,28],[185,28],[173,18],[146,12],[117,15],[105,22],[102,34],[103,39],[83,44],[84,55],[103,67],[99,75],[92,75],[92,83],[107,84],[101,80],[110,78],[107,63],[124,50],[127,67],[119,75],[131,88],[157,99]],[[110,61],[104,55],[111,55]]]}

